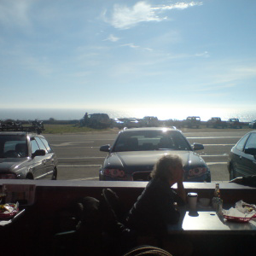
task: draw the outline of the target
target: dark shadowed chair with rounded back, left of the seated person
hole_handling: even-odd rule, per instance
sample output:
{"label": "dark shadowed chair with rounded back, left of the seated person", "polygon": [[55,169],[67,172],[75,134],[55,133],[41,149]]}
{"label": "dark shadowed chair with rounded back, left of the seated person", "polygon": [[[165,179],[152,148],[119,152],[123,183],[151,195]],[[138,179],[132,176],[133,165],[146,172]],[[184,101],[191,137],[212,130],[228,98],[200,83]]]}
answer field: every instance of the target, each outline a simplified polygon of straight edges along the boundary
{"label": "dark shadowed chair with rounded back, left of the seated person", "polygon": [[102,215],[99,201],[86,196],[74,201],[55,218],[53,255],[101,255]]}

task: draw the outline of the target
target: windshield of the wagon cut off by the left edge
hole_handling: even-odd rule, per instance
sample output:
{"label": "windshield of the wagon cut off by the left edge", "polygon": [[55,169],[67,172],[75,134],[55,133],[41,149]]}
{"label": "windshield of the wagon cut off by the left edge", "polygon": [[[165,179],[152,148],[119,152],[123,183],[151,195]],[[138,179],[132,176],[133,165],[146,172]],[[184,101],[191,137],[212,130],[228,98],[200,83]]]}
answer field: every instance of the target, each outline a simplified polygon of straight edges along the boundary
{"label": "windshield of the wagon cut off by the left edge", "polygon": [[26,156],[26,137],[15,135],[0,135],[1,158],[20,158]]}

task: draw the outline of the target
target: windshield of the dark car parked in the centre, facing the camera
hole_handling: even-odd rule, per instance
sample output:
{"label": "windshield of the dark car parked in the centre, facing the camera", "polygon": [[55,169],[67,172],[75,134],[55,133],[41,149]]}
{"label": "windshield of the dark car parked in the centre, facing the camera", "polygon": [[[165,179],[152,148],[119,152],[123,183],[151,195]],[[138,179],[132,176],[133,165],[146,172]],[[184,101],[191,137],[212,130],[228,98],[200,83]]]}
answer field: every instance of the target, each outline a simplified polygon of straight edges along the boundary
{"label": "windshield of the dark car parked in the centre, facing the camera", "polygon": [[120,133],[113,152],[148,150],[191,150],[178,131],[129,131]]}

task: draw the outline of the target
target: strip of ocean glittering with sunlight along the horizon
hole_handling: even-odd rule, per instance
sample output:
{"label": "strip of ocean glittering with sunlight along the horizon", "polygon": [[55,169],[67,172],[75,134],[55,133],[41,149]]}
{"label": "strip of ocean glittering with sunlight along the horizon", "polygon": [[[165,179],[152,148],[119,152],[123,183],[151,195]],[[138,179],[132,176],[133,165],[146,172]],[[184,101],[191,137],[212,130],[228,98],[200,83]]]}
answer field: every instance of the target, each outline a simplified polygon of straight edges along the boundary
{"label": "strip of ocean glittering with sunlight along the horizon", "polygon": [[239,109],[216,109],[216,108],[192,108],[192,109],[173,109],[173,108],[130,108],[130,109],[1,109],[0,120],[73,120],[82,119],[84,113],[108,113],[109,117],[114,118],[137,118],[142,119],[144,116],[156,116],[160,120],[178,119],[183,120],[188,116],[199,116],[202,121],[207,121],[212,117],[220,117],[223,120],[238,118],[241,122],[250,122],[256,119],[256,111],[245,111]]}

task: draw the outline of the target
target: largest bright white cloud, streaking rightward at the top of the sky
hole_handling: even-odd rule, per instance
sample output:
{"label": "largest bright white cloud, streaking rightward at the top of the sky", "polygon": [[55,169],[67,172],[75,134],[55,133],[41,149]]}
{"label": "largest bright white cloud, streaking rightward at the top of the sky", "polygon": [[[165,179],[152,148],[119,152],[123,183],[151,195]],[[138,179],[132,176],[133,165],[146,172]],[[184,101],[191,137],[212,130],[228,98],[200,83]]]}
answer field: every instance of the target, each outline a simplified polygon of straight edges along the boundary
{"label": "largest bright white cloud, streaking rightward at the top of the sky", "polygon": [[202,3],[190,2],[152,6],[146,2],[138,2],[132,7],[115,4],[111,17],[107,18],[107,12],[105,12],[103,19],[115,28],[128,29],[136,26],[140,22],[166,20],[166,16],[160,16],[160,14],[165,11],[172,9],[188,9],[189,7],[198,5],[202,5]]}

